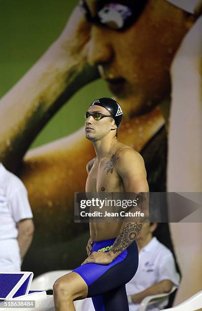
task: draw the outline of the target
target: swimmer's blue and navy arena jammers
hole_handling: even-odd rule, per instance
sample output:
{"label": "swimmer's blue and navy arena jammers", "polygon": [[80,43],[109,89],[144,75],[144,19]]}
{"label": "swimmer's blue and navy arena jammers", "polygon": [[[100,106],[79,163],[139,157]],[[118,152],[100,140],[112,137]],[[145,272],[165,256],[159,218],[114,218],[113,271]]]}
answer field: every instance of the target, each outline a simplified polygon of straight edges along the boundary
{"label": "swimmer's blue and navy arena jammers", "polygon": [[[116,239],[93,243],[92,252],[108,252]],[[138,248],[135,241],[108,265],[87,263],[73,272],[78,273],[88,285],[96,311],[128,311],[126,283],[138,267]]]}

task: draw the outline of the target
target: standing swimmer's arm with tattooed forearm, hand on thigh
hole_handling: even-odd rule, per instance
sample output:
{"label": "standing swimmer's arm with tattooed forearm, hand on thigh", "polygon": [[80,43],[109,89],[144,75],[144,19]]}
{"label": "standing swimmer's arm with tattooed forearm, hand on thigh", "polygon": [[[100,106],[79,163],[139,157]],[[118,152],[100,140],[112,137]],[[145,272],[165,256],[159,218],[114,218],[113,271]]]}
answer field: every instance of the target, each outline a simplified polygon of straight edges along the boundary
{"label": "standing swimmer's arm with tattooed forearm, hand on thigh", "polygon": [[[145,163],[141,155],[131,149],[124,149],[119,154],[117,163],[117,172],[122,178],[126,192],[143,193],[148,198],[149,186],[147,182],[147,173]],[[149,200],[145,200],[146,206],[143,206],[145,216],[149,210]],[[145,217],[145,218],[146,218]],[[145,219],[143,219],[145,221]],[[142,228],[140,222],[124,221],[120,234],[114,241],[111,250],[107,253],[111,259],[115,259],[135,240]]]}

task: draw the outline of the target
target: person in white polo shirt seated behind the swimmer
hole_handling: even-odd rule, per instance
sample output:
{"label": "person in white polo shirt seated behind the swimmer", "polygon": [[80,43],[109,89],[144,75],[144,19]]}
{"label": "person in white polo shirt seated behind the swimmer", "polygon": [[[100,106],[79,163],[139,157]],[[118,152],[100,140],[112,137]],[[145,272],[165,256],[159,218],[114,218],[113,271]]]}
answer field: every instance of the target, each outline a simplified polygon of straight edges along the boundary
{"label": "person in white polo shirt seated behind the swimmer", "polygon": [[[178,286],[180,277],[176,270],[174,256],[166,246],[160,243],[153,232],[157,223],[145,223],[136,238],[139,251],[139,265],[135,276],[126,284],[129,310],[138,311],[143,298],[169,292]],[[157,311],[165,307],[168,299],[151,304],[147,311]],[[86,298],[82,311],[94,311],[91,298]]]}

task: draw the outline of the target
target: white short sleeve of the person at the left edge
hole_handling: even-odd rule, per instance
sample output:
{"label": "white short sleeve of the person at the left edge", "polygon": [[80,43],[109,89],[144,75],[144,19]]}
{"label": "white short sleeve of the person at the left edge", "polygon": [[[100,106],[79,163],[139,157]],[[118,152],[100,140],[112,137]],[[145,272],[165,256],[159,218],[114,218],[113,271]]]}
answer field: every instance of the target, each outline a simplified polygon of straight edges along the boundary
{"label": "white short sleeve of the person at the left edge", "polygon": [[9,205],[12,217],[16,223],[22,219],[33,218],[25,186],[22,185],[17,191],[15,191],[10,198]]}

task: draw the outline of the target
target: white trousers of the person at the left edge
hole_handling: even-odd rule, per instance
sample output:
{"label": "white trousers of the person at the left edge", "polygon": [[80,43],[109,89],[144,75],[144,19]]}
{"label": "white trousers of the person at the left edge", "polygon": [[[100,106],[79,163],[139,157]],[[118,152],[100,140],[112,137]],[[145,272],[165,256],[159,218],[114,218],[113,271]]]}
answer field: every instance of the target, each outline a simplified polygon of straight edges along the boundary
{"label": "white trousers of the person at the left edge", "polygon": [[20,248],[17,239],[0,239],[0,272],[21,271]]}

